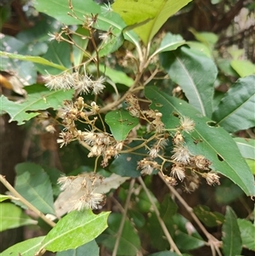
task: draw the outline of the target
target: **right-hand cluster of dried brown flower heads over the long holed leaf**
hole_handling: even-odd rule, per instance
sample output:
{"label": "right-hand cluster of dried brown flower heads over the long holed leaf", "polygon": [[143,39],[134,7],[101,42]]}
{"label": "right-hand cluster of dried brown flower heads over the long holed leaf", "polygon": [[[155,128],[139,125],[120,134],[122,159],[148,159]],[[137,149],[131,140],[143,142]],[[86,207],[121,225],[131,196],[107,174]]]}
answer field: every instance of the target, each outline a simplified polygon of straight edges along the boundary
{"label": "right-hand cluster of dried brown flower heads over the long holed leaf", "polygon": [[[190,134],[195,129],[195,122],[189,117],[180,117],[180,125],[175,129],[175,134],[168,134],[161,122],[161,113],[158,111],[140,111],[135,98],[128,99],[129,104],[133,104],[128,107],[128,111],[137,113],[133,115],[135,117],[145,117],[151,119],[149,131],[154,130],[156,133],[155,141],[153,145],[150,145],[149,156],[144,157],[139,161],[138,168],[141,169],[141,174],[152,174],[153,170],[161,171],[162,177],[169,185],[177,185],[178,180],[183,182],[184,191],[195,191],[199,184],[200,179],[207,180],[208,185],[219,185],[219,176],[212,172],[210,165],[211,162],[207,160],[205,156],[195,156],[190,153],[187,145],[184,141],[185,133]],[[149,120],[148,119],[148,120]],[[173,150],[171,159],[168,159],[165,154],[165,147],[167,146],[168,136],[172,136]],[[159,164],[159,159],[163,160],[163,163]],[[170,173],[167,174],[167,169],[164,164],[170,163]],[[209,172],[208,172],[209,171]]]}

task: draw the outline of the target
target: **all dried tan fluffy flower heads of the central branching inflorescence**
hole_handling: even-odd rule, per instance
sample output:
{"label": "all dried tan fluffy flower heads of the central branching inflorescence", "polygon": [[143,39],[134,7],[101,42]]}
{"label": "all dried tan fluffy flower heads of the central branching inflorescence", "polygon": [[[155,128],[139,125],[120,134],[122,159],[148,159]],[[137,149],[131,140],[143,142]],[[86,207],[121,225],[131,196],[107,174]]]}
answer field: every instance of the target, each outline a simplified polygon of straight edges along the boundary
{"label": "all dried tan fluffy flower heads of the central branching inflorescence", "polygon": [[[100,77],[93,81],[87,74],[79,75],[77,72],[48,76],[45,79],[48,88],[75,88],[78,94],[99,94],[105,87],[103,85],[104,78]],[[185,133],[190,134],[195,128],[193,120],[189,117],[180,117],[178,128],[169,131],[161,121],[161,112],[151,109],[142,110],[135,95],[127,94],[126,103],[128,105],[127,111],[131,116],[139,117],[141,121],[147,123],[147,134],[150,134],[149,139],[141,139],[142,143],[139,146],[149,150],[148,154],[138,162],[138,169],[141,170],[141,174],[150,175],[154,170],[159,171],[167,184],[177,185],[178,181],[182,182],[185,191],[195,191],[201,178],[205,178],[208,185],[219,184],[218,175],[213,173],[209,167],[211,162],[204,156],[192,155],[185,145]],[[81,96],[74,101],[66,101],[64,107],[59,110],[57,117],[61,119],[60,123],[65,127],[57,139],[60,147],[78,140],[88,149],[88,157],[102,157],[101,166],[103,168],[109,164],[112,157],[117,157],[122,152],[132,151],[132,148],[127,145],[132,139],[138,139],[129,136],[124,141],[116,141],[111,134],[105,131],[99,105],[94,101],[88,105]],[[104,130],[96,126],[95,123],[98,118],[102,122]],[[77,122],[87,124],[88,129],[78,129]],[[50,127],[52,128],[52,125]],[[49,127],[48,130],[50,130]],[[170,143],[169,138],[172,138],[173,145],[170,156],[169,152],[166,154],[166,146]],[[76,178],[61,177],[59,184],[62,185],[62,189],[70,188],[71,181],[74,179]],[[78,202],[75,202],[73,209],[98,208],[105,197],[99,193],[94,193],[94,181],[97,179],[96,174],[91,177],[84,176],[80,185],[80,190],[84,191],[84,195]]]}

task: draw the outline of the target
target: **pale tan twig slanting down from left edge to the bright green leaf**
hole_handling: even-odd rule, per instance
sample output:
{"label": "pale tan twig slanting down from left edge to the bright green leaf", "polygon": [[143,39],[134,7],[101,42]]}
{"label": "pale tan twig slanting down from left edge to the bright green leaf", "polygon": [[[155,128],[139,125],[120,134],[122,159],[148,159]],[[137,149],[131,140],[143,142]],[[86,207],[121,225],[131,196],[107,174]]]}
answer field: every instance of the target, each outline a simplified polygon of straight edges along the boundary
{"label": "pale tan twig slanting down from left edge to the bright green leaf", "polygon": [[48,219],[43,213],[41,213],[37,208],[35,208],[30,202],[26,201],[26,199],[18,193],[12,185],[8,183],[3,175],[0,174],[0,181],[3,185],[10,191],[15,197],[19,198],[19,201],[26,205],[27,208],[31,209],[34,213],[43,219],[48,225],[54,227],[56,225],[52,220]]}

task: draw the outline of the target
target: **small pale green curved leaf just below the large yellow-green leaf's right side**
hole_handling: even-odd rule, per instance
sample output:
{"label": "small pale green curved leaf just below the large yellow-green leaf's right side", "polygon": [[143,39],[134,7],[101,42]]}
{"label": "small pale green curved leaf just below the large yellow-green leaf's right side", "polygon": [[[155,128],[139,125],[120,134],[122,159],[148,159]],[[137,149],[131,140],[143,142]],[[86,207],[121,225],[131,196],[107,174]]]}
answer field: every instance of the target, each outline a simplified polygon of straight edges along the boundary
{"label": "small pale green curved leaf just below the large yellow-green leaf's right side", "polygon": [[153,55],[160,54],[163,52],[176,50],[179,46],[184,45],[185,40],[180,35],[173,35],[168,32],[161,41],[160,48],[157,48]]}

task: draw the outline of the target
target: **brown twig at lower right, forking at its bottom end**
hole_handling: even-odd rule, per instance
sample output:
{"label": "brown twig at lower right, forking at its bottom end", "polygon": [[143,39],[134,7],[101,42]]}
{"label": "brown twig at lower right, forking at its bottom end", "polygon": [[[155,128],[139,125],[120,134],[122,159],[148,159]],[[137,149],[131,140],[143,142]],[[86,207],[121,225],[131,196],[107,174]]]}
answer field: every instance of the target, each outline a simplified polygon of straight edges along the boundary
{"label": "brown twig at lower right, forking at its bottom end", "polygon": [[218,241],[217,238],[215,238],[214,236],[212,236],[204,227],[204,225],[201,224],[201,221],[196,217],[195,213],[193,212],[193,208],[190,208],[190,206],[188,205],[187,202],[185,202],[184,198],[182,196],[179,195],[178,191],[176,191],[173,186],[167,184],[166,179],[164,179],[163,175],[161,173],[159,173],[159,176],[161,177],[161,179],[166,183],[167,187],[169,188],[169,190],[173,193],[174,196],[176,196],[176,198],[178,199],[178,201],[184,206],[184,208],[188,211],[188,213],[190,213],[190,216],[192,219],[194,219],[196,225],[199,226],[199,228],[201,229],[201,231],[204,233],[205,236],[207,236],[208,239],[208,245],[212,248],[212,254],[213,250],[215,249],[218,253],[219,256],[222,256],[222,254],[220,253],[218,247],[221,246],[221,242]]}

